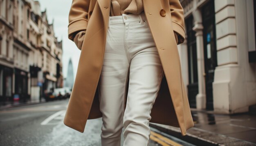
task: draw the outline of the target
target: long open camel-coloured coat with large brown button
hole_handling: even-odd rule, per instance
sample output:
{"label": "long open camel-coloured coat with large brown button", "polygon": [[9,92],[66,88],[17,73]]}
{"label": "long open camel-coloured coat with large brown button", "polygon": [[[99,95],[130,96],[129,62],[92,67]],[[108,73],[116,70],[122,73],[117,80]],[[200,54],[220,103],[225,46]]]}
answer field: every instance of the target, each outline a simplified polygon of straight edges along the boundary
{"label": "long open camel-coloured coat with large brown button", "polygon": [[[69,39],[73,40],[77,31],[86,29],[86,33],[64,124],[82,133],[88,119],[102,117],[97,85],[104,58],[110,1],[73,0],[69,13]],[[179,34],[178,44],[184,42],[183,9],[179,0],[143,0],[143,5],[164,69],[150,122],[180,127],[184,136],[194,123],[174,35],[174,31]]]}

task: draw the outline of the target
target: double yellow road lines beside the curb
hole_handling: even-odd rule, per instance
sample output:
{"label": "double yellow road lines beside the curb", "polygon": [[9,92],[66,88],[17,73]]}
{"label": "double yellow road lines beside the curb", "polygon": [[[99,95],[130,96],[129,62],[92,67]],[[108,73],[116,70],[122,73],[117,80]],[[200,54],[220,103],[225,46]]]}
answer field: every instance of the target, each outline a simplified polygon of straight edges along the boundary
{"label": "double yellow road lines beside the curb", "polygon": [[158,133],[155,133],[153,131],[150,132],[150,139],[152,139],[153,141],[159,144],[162,144],[163,146],[182,146],[181,144],[178,144],[177,142],[174,142],[173,140],[167,137],[164,137],[163,135],[160,135]]}

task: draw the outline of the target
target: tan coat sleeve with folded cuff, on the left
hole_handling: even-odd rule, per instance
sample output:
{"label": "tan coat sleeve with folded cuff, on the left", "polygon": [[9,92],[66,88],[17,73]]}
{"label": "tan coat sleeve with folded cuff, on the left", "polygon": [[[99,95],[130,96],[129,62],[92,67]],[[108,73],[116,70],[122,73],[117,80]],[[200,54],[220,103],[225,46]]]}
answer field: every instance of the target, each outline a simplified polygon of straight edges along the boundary
{"label": "tan coat sleeve with folded cuff, on the left", "polygon": [[86,30],[90,0],[73,0],[68,16],[68,38],[74,41],[78,31]]}

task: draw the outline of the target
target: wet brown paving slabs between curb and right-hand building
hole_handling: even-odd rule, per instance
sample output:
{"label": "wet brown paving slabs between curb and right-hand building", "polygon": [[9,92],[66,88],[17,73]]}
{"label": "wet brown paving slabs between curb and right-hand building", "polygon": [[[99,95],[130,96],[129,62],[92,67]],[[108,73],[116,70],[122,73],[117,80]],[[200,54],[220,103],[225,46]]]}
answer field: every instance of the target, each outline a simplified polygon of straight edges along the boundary
{"label": "wet brown paving slabs between curb and right-hand building", "polygon": [[249,113],[222,115],[193,109],[191,111],[194,128],[256,143],[256,115]]}

